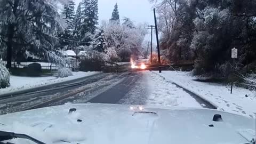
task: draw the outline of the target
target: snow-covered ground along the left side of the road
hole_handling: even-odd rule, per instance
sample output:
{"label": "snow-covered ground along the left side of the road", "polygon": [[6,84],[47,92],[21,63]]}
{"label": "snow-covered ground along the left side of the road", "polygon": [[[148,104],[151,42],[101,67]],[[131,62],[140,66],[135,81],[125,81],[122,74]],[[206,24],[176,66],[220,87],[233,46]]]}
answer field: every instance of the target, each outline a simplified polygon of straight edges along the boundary
{"label": "snow-covered ground along the left side of the road", "polygon": [[0,94],[10,93],[10,92],[16,92],[26,89],[31,89],[35,87],[60,83],[64,81],[70,81],[72,79],[77,79],[85,76],[90,76],[97,74],[99,72],[73,72],[73,76],[64,77],[64,78],[57,78],[53,76],[47,76],[47,77],[20,77],[20,76],[10,76],[10,87],[7,87],[6,89],[0,89]]}

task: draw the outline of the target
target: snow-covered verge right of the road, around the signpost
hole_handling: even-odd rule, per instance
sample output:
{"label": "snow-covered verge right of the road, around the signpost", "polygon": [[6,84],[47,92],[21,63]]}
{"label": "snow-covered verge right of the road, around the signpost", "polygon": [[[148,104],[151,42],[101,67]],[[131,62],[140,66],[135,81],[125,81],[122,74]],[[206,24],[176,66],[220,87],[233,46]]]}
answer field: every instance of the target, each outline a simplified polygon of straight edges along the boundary
{"label": "snow-covered verge right of the road, around the signpost", "polygon": [[[234,87],[233,94],[230,94],[230,85],[197,82],[194,81],[196,77],[191,76],[189,72],[162,71],[162,74],[159,74],[157,71],[154,71],[153,73],[165,77],[165,81],[174,82],[196,93],[215,106],[218,106],[218,109],[249,117],[256,115],[256,97],[252,91]],[[246,98],[246,94],[249,97]]]}

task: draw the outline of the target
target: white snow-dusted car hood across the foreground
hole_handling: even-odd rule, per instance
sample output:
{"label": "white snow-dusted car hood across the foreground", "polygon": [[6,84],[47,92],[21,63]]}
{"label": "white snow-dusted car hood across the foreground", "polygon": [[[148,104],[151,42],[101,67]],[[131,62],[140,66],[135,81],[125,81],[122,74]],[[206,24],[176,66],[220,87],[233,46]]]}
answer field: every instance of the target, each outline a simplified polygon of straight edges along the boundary
{"label": "white snow-dusted car hood across the foreground", "polygon": [[[70,108],[76,111],[69,113]],[[212,121],[214,114],[220,114],[223,122]],[[2,115],[0,130],[45,143],[247,143],[246,137],[255,133],[255,119],[210,109],[86,103]]]}

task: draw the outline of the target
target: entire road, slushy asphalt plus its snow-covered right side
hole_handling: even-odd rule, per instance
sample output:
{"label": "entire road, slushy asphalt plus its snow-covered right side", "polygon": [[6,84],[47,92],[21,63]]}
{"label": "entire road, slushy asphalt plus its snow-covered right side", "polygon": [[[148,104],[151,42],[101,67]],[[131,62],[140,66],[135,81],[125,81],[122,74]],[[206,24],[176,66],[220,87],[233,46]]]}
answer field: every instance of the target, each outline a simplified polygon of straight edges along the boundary
{"label": "entire road, slushy asphalt plus its snow-covered right side", "polygon": [[150,71],[100,73],[77,82],[0,98],[0,114],[65,103],[120,103],[131,105],[213,108]]}

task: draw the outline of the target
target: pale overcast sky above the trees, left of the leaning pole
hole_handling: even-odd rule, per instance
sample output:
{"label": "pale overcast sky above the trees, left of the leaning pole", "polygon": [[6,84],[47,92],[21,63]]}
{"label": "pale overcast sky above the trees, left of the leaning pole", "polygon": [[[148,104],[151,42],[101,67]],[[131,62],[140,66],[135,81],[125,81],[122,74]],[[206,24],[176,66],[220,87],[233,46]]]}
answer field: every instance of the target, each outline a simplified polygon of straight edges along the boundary
{"label": "pale overcast sky above the trees, left of the leaning pole", "polygon": [[[75,0],[76,5],[82,0]],[[130,18],[136,23],[147,22],[154,24],[154,14],[151,10],[152,4],[148,0],[99,0],[99,22],[109,20],[114,10],[114,5],[118,4],[121,20],[124,17]]]}

